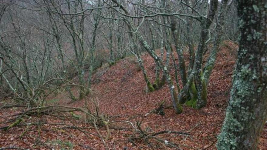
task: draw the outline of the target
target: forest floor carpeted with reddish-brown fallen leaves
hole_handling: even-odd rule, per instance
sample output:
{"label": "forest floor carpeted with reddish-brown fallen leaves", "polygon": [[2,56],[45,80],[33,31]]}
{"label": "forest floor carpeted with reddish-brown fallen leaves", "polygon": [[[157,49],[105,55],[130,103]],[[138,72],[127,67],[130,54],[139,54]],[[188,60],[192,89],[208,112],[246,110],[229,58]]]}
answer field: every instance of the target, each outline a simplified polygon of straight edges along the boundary
{"label": "forest floor carpeted with reddish-brown fallen leaves", "polygon": [[[116,126],[115,124],[109,126],[111,135],[105,140],[106,145],[110,149],[125,150],[175,149],[166,145],[166,142],[174,142],[179,149],[183,150],[216,149],[216,136],[220,132],[228,104],[237,48],[236,44],[227,41],[221,45],[208,84],[207,106],[200,110],[183,106],[184,112],[180,115],[177,115],[172,107],[168,107],[171,106],[171,98],[166,84],[157,91],[146,92],[146,83],[134,56],[119,60],[111,67],[106,65],[97,69],[93,75],[93,95],[99,103],[99,113],[104,114],[109,122],[128,121],[137,125],[137,122],[142,121],[140,128],[147,133],[166,130],[190,134],[165,133],[157,135],[157,138],[134,140],[131,126],[127,125],[127,122],[120,122]],[[204,60],[207,55],[204,56]],[[154,82],[154,60],[146,53],[142,55],[142,58],[150,81]],[[177,55],[175,55],[175,58],[177,59]],[[185,55],[185,59],[188,65],[189,56]],[[170,61],[170,64],[171,75],[174,77],[172,61]],[[165,115],[149,113],[159,107],[159,104],[164,100]],[[71,107],[84,107],[87,101],[88,99],[83,99],[70,103],[64,93],[59,93],[51,98],[53,105]],[[92,103],[88,102],[88,104],[91,112],[93,112]],[[10,115],[20,111],[20,108],[1,109],[0,127],[9,125],[10,123],[3,124],[2,122],[11,118]],[[39,136],[38,126],[29,126],[27,133],[21,139],[19,136],[25,131],[25,126],[13,127],[8,131],[1,130],[0,149],[1,147],[14,146],[27,149],[104,149],[103,141],[96,136],[98,134],[96,129],[93,125],[86,123],[84,119],[76,119],[75,124],[86,132],[81,132],[75,128],[63,128],[60,125],[51,125],[53,123],[74,124],[69,120],[60,120],[53,115],[29,117],[25,121],[27,122],[29,119],[31,119],[31,122],[43,120],[50,124],[44,123],[40,127]],[[106,126],[99,127],[99,132],[105,138],[107,135]],[[164,139],[165,144],[160,139]],[[260,138],[259,149],[267,149],[267,124],[265,124]]]}

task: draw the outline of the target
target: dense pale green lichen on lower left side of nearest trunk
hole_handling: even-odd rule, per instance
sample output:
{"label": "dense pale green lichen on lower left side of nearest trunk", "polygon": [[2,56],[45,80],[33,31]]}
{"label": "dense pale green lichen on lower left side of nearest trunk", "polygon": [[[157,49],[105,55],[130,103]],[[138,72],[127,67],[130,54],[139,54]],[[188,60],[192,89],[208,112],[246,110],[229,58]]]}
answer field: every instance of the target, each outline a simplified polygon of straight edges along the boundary
{"label": "dense pale green lichen on lower left side of nearest trunk", "polygon": [[[244,128],[251,128],[248,126],[249,122],[255,119],[255,115],[249,107],[255,103],[255,100],[249,99],[254,95],[251,82],[255,80],[253,79],[255,72],[248,67],[249,65],[243,65],[242,69],[235,73],[225,122],[221,129],[222,132],[218,136],[217,146],[219,150],[240,149],[238,145],[240,141],[238,140],[244,138],[245,135],[242,134]],[[260,89],[261,87],[258,88],[259,91],[261,91]]]}

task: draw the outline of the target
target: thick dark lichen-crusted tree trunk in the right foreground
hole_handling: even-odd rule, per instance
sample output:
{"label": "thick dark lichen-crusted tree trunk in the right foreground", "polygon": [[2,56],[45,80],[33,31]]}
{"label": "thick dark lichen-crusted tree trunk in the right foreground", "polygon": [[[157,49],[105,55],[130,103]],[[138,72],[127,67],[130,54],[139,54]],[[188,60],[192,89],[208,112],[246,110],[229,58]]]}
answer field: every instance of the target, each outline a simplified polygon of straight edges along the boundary
{"label": "thick dark lichen-crusted tree trunk in the right foreground", "polygon": [[241,38],[218,150],[257,149],[267,117],[266,1],[238,1]]}

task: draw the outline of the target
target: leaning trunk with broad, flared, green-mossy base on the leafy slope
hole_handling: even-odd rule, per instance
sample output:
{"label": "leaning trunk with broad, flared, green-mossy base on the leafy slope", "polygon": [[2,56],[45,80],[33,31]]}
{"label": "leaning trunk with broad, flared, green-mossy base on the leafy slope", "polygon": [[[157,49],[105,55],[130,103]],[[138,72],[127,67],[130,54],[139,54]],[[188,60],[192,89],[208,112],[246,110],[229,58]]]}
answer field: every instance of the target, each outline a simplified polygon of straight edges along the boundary
{"label": "leaning trunk with broad, flared, green-mossy base on the leafy slope", "polygon": [[[198,43],[198,49],[195,54],[194,67],[187,79],[187,83],[178,95],[179,103],[184,103],[187,100],[187,94],[190,93],[191,100],[187,103],[187,105],[197,109],[204,107],[207,103],[207,86],[202,73],[202,60],[205,40],[208,36],[208,28],[214,18],[217,5],[218,0],[211,0],[207,17],[201,18],[201,35]],[[197,98],[195,95],[196,92]]]}

